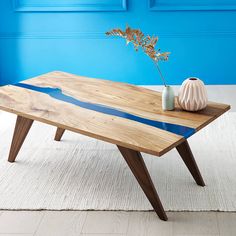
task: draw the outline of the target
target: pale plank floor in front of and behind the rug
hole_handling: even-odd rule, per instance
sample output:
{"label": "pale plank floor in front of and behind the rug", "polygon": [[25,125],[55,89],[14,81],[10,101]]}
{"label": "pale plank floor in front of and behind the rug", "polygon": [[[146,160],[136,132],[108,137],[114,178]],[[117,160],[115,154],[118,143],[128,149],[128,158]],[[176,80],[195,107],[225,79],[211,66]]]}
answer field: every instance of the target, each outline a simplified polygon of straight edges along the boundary
{"label": "pale plank floor in front of and behind the rug", "polygon": [[[207,90],[210,100],[231,104],[231,111],[236,111],[236,85],[207,86]],[[236,236],[236,213],[167,215],[169,221],[163,222],[154,212],[0,211],[0,236]]]}

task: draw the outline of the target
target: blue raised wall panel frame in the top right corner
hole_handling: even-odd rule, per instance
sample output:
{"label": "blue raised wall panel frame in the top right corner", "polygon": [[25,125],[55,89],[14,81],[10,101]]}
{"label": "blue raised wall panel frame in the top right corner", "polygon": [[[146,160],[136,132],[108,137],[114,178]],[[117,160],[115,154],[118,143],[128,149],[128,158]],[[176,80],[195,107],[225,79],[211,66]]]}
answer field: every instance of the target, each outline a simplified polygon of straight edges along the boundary
{"label": "blue raised wall panel frame in the top right corner", "polygon": [[148,0],[150,11],[233,11],[236,10],[236,1],[222,0],[220,3],[207,2],[207,0],[196,1],[179,0],[179,3],[168,3],[168,0]]}

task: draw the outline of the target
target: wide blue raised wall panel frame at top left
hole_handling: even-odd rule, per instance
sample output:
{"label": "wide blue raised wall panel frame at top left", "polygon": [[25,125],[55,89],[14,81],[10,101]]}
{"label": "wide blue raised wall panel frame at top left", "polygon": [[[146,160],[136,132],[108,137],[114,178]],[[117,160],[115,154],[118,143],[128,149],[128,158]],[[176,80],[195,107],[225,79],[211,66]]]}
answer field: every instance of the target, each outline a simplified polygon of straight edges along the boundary
{"label": "wide blue raised wall panel frame at top left", "polygon": [[38,1],[12,0],[17,12],[103,12],[126,11],[127,0],[73,0],[64,4],[40,3]]}

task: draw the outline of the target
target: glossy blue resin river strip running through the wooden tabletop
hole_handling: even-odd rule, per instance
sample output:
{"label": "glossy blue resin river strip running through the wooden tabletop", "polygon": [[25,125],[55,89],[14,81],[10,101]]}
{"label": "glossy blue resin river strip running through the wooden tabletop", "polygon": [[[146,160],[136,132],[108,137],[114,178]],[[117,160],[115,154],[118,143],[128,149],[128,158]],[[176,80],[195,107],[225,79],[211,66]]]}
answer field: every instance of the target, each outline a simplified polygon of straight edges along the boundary
{"label": "glossy blue resin river strip running through the wooden tabletop", "polygon": [[93,110],[93,111],[104,113],[107,115],[121,117],[128,120],[136,121],[145,125],[153,126],[155,128],[159,128],[159,129],[166,130],[174,134],[184,136],[184,138],[188,138],[195,133],[195,129],[187,127],[187,126],[151,120],[151,119],[133,115],[125,111],[121,111],[121,110],[118,110],[109,106],[105,106],[102,104],[80,101],[76,98],[63,94],[62,90],[59,88],[38,87],[35,85],[24,84],[24,83],[17,83],[17,84],[14,84],[14,86],[30,89],[30,90],[37,91],[40,93],[45,93],[51,96],[52,98],[58,99],[63,102],[71,103],[85,109]]}

